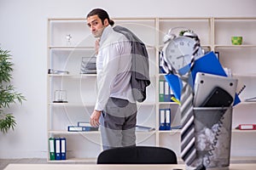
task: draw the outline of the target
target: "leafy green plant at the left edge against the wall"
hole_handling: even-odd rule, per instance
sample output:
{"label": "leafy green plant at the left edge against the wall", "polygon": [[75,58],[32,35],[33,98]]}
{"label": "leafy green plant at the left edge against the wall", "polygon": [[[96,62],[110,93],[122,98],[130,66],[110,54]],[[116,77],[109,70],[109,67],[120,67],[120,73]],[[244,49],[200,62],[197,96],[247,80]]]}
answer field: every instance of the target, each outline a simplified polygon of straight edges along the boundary
{"label": "leafy green plant at the left edge against the wall", "polygon": [[13,63],[10,61],[11,55],[8,50],[0,48],[0,131],[7,133],[10,128],[14,130],[16,126],[15,116],[11,113],[4,113],[5,108],[18,101],[22,104],[25,97],[15,91],[15,87],[10,84],[12,80],[11,72]]}

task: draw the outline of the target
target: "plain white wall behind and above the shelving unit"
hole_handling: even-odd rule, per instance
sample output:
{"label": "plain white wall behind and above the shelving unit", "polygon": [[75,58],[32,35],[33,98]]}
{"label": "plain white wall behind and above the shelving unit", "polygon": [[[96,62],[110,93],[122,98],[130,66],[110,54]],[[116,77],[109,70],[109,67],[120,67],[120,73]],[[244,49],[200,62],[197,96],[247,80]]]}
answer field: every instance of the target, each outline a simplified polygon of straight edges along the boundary
{"label": "plain white wall behind and above the shelving unit", "polygon": [[47,156],[47,19],[82,18],[97,7],[111,17],[256,17],[254,0],[0,0],[0,47],[11,51],[13,82],[27,99],[11,109],[15,131],[0,133],[0,158]]}

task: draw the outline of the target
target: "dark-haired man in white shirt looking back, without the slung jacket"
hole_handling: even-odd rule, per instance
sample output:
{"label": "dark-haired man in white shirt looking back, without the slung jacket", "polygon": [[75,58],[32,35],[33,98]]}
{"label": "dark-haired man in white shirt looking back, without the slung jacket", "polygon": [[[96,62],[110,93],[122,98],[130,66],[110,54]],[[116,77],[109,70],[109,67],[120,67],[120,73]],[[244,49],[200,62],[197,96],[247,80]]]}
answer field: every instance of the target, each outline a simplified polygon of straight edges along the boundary
{"label": "dark-haired man in white shirt looking back, without the slung jacket", "polygon": [[96,40],[97,97],[91,126],[100,126],[103,150],[136,144],[137,105],[131,91],[131,43],[95,8],[87,25]]}

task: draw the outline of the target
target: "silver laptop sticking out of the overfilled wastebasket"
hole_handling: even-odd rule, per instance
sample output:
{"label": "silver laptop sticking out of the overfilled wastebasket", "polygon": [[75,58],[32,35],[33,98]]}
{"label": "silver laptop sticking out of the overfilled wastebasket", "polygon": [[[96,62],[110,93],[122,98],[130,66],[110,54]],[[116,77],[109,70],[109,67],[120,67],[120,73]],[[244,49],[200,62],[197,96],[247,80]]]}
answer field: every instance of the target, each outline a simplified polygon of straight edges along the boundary
{"label": "silver laptop sticking out of the overfilled wastebasket", "polygon": [[223,77],[204,72],[197,72],[194,86],[194,107],[204,106],[207,99],[216,88],[221,88],[230,94],[230,96],[233,98],[233,103],[236,95],[237,82],[238,80],[234,77]]}

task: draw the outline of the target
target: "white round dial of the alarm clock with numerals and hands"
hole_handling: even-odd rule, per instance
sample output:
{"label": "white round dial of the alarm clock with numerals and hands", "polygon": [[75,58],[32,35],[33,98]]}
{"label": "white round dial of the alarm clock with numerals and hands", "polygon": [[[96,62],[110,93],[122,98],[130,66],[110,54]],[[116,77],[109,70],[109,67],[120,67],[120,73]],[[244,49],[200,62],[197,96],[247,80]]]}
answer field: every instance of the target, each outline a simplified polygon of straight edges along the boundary
{"label": "white round dial of the alarm clock with numerals and hands", "polygon": [[[166,44],[164,47],[164,55],[168,65],[178,71],[185,65],[189,65],[195,40],[189,37],[176,37]],[[195,54],[195,59],[203,55],[202,49],[199,48],[198,53]]]}

